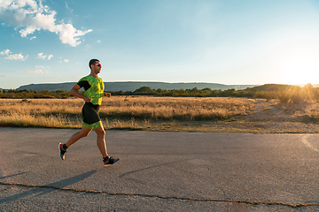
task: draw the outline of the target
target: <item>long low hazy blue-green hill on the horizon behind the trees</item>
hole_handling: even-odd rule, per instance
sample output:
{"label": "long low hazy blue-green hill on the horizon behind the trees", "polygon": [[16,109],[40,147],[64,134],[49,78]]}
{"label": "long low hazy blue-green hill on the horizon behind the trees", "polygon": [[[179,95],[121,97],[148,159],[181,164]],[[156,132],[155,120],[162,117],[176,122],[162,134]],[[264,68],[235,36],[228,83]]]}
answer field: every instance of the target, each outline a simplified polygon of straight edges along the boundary
{"label": "long low hazy blue-green hill on the horizon behind the trees", "polygon": [[[30,84],[26,86],[18,87],[17,90],[71,90],[74,87],[75,82],[65,83],[45,83],[45,84]],[[151,87],[152,89],[162,90],[178,90],[178,89],[191,89],[197,87],[198,89],[204,89],[206,87],[212,90],[228,90],[234,88],[245,89],[247,87],[254,87],[256,85],[223,85],[218,83],[205,83],[205,82],[193,82],[193,83],[167,83],[167,82],[136,82],[136,81],[123,81],[123,82],[105,82],[105,91],[135,91],[140,87]]]}

